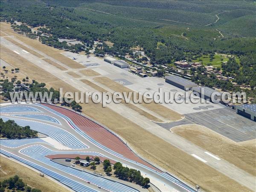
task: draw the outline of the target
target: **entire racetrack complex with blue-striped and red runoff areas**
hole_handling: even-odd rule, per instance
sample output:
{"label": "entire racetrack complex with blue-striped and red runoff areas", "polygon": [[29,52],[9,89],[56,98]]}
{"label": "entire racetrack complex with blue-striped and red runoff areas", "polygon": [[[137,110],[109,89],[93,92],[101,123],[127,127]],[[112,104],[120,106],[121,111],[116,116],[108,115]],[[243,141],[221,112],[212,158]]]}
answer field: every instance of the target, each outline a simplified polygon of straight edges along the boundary
{"label": "entire racetrack complex with blue-striped and red runoff areas", "polygon": [[[0,152],[52,177],[77,192],[148,191],[134,183],[117,182],[89,171],[55,163],[50,158],[70,155],[97,156],[123,166],[140,170],[160,191],[194,192],[179,178],[141,158],[121,138],[98,122],[79,113],[49,104],[1,104],[3,121],[14,120],[20,126],[29,125],[44,137],[31,139],[1,139]],[[59,157],[58,157],[59,156]]]}

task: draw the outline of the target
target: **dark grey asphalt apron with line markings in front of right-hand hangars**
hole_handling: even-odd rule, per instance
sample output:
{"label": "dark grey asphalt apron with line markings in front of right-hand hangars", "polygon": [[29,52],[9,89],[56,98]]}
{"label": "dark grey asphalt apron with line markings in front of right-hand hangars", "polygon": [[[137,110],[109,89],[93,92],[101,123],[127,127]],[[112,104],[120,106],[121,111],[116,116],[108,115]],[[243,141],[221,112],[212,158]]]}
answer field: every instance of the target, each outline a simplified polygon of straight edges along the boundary
{"label": "dark grey asphalt apron with line markings in front of right-hand hangars", "polygon": [[256,122],[237,114],[230,108],[189,113],[183,120],[177,122],[158,123],[167,130],[187,124],[203,125],[235,142],[256,138]]}

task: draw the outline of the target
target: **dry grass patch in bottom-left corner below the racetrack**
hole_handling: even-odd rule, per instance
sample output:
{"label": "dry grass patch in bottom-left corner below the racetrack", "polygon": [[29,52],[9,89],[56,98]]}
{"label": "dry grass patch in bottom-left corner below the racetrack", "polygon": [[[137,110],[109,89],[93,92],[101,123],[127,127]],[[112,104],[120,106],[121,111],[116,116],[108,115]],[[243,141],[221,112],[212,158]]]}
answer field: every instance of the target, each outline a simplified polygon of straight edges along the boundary
{"label": "dry grass patch in bottom-left corner below the racetrack", "polygon": [[1,158],[1,181],[14,175],[18,175],[29,186],[40,189],[42,192],[68,192],[69,190],[49,180],[46,177],[41,177],[39,173],[31,169],[8,160],[5,157]]}

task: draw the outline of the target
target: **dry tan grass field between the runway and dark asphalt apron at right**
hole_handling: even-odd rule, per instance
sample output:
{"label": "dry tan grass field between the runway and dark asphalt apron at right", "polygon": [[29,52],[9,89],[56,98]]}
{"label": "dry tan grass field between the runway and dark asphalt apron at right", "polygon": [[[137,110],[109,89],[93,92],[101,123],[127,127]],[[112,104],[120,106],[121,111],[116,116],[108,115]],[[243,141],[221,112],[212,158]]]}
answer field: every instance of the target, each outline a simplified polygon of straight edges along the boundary
{"label": "dry tan grass field between the runway and dark asphalt apron at right", "polygon": [[235,143],[201,125],[182,125],[172,128],[172,131],[244,171],[256,175],[255,140]]}

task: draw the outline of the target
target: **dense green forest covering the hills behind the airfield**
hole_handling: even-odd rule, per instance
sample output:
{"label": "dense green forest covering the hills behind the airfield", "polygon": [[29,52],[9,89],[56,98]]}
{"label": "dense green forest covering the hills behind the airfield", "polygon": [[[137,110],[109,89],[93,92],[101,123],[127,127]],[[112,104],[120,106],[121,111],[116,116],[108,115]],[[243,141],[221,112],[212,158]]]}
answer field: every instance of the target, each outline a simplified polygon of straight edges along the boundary
{"label": "dense green forest covering the hills behind the airfield", "polygon": [[[140,46],[156,66],[174,61],[222,53],[233,55],[221,65],[223,74],[255,92],[256,6],[254,1],[1,1],[2,21],[15,20],[38,29],[39,39],[49,46],[73,52],[103,42],[96,55],[124,58],[131,47]],[[44,26],[44,27],[42,27]],[[25,27],[14,26],[28,31]],[[31,33],[30,33],[31,34]],[[46,35],[42,35],[46,34]],[[84,45],[67,46],[58,38],[77,39]],[[107,46],[110,41],[113,46]],[[215,76],[192,77],[202,85],[234,90],[230,82]],[[236,88],[237,90],[237,88]]]}

